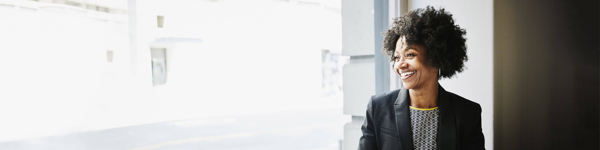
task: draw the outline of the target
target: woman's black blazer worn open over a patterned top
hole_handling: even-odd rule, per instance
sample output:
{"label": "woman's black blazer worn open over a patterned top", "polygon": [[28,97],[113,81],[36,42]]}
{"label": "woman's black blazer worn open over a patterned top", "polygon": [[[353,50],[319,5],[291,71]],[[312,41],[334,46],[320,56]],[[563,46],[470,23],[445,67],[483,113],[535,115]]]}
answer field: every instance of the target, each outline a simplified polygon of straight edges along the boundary
{"label": "woman's black blazer worn open over a patterned top", "polygon": [[[439,86],[437,148],[485,149],[481,132],[481,106]],[[410,97],[406,88],[371,96],[362,123],[358,149],[412,150],[409,116]]]}

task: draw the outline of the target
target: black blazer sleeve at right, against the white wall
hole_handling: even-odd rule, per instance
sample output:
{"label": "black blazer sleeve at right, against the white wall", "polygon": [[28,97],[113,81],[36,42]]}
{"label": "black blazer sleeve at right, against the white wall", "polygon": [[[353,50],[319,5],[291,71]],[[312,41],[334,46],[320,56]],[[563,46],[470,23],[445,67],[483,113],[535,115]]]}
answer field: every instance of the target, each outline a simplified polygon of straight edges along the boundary
{"label": "black blazer sleeve at right, against the white wall", "polygon": [[485,150],[485,138],[484,133],[481,130],[481,105],[477,104],[476,109],[473,129],[469,132],[469,136],[466,138],[466,143],[463,146],[463,149]]}

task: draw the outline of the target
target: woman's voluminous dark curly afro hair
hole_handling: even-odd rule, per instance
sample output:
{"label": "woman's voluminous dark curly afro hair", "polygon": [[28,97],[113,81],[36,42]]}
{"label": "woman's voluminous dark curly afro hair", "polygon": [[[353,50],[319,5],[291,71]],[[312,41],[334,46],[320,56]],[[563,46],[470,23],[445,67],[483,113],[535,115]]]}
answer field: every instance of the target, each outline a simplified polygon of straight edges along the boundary
{"label": "woman's voluminous dark curly afro hair", "polygon": [[431,6],[419,8],[394,19],[383,37],[382,52],[394,61],[394,51],[399,38],[405,37],[412,44],[427,49],[429,65],[440,69],[437,79],[452,78],[464,70],[467,62],[467,34],[465,29],[454,25],[452,14],[444,8],[436,10]]}

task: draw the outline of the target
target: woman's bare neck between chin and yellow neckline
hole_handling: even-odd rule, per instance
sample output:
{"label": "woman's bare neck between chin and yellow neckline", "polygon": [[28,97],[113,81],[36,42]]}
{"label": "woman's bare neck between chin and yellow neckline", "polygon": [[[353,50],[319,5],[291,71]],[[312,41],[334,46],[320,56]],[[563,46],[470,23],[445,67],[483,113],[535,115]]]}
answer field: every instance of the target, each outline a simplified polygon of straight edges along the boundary
{"label": "woman's bare neck between chin and yellow neckline", "polygon": [[409,89],[410,106],[419,109],[437,107],[437,92],[439,83],[433,82],[418,89]]}

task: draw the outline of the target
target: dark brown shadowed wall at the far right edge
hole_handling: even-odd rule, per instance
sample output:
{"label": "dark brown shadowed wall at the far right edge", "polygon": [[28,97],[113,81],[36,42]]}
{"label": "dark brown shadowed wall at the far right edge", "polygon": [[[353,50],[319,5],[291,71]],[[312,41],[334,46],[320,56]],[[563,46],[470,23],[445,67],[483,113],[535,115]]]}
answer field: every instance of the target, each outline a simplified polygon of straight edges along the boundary
{"label": "dark brown shadowed wall at the far right edge", "polygon": [[599,1],[494,1],[494,149],[600,149]]}

